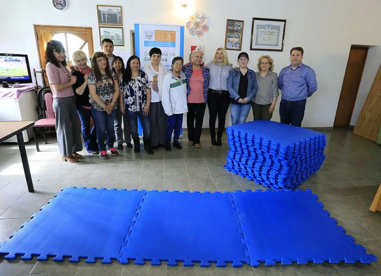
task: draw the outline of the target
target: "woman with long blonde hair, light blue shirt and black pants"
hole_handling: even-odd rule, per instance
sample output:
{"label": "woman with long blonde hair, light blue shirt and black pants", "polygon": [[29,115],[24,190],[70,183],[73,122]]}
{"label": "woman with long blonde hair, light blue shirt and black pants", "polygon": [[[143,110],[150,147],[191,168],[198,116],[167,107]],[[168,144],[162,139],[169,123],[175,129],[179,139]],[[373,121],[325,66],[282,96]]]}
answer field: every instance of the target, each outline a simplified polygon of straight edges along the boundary
{"label": "woman with long blonde hair, light blue shirt and black pants", "polygon": [[[225,118],[229,109],[229,91],[227,90],[227,79],[229,79],[232,65],[227,59],[224,48],[217,48],[213,61],[206,67],[209,68],[208,109],[209,109],[209,131],[212,145],[222,145],[222,134],[225,128]],[[216,119],[218,116],[218,131],[216,140]]]}

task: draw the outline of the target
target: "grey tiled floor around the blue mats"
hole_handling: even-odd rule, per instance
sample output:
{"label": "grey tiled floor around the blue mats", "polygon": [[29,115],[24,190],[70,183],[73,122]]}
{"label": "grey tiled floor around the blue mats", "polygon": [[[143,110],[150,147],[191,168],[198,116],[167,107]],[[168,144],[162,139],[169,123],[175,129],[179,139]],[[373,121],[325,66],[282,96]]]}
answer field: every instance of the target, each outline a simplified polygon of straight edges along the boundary
{"label": "grey tiled floor around the blue mats", "polygon": [[[312,188],[332,216],[354,236],[368,252],[381,257],[381,214],[368,208],[381,182],[381,146],[346,129],[325,131],[327,134],[327,159],[301,188]],[[134,154],[125,149],[119,156],[101,160],[99,156],[84,153],[76,164],[60,161],[57,144],[40,145],[36,152],[34,141],[27,143],[27,152],[34,180],[35,192],[27,192],[18,146],[0,144],[0,241],[18,230],[35,211],[54,194],[66,186],[106,188],[166,189],[189,191],[235,191],[237,189],[263,189],[223,169],[227,146],[214,147],[209,135],[202,134],[202,148],[189,147],[184,139],[183,149],[155,155]],[[8,262],[0,258],[0,275],[381,275],[381,262],[371,265],[291,265],[251,268],[152,267],[90,265],[57,263],[53,261]]]}

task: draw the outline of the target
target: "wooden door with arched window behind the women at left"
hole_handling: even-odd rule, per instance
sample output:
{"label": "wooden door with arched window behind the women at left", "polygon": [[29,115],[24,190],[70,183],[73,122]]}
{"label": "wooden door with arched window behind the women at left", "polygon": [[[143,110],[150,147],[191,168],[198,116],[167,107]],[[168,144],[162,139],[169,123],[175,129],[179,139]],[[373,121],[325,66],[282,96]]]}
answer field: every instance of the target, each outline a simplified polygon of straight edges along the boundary
{"label": "wooden door with arched window behind the women at left", "polygon": [[[71,63],[71,55],[76,50],[83,52],[91,57],[94,53],[93,30],[91,27],[73,27],[73,26],[54,26],[54,25],[34,25],[38,55],[40,58],[40,68],[45,69],[45,47],[46,42],[43,39],[42,32],[50,31],[53,33],[52,39],[62,42],[66,52],[66,60]],[[45,83],[48,80],[45,75]]]}

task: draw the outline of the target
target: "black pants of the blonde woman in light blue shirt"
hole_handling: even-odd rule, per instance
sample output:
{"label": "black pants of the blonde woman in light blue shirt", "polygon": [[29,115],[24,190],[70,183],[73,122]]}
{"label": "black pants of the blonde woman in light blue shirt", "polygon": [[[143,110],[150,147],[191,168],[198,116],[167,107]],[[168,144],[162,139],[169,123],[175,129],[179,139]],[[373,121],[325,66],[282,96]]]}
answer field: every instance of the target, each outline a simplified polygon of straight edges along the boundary
{"label": "black pants of the blonde woman in light blue shirt", "polygon": [[218,116],[217,139],[221,139],[225,128],[225,118],[227,109],[229,109],[229,92],[221,91],[221,93],[208,91],[208,108],[209,108],[209,131],[210,136],[216,137],[216,119]]}

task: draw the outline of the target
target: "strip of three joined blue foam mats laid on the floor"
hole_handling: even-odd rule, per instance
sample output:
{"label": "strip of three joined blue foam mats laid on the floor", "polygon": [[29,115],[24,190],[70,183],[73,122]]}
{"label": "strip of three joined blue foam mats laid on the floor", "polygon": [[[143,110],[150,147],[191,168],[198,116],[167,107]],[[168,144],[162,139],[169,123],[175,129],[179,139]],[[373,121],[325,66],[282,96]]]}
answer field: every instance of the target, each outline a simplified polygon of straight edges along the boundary
{"label": "strip of three joined blue foam mats laid on the floor", "polygon": [[0,244],[6,259],[151,265],[370,263],[311,190],[168,192],[64,188]]}

